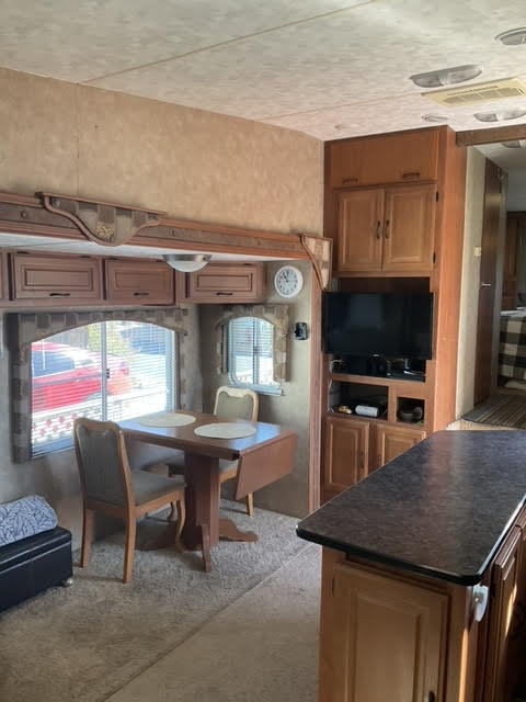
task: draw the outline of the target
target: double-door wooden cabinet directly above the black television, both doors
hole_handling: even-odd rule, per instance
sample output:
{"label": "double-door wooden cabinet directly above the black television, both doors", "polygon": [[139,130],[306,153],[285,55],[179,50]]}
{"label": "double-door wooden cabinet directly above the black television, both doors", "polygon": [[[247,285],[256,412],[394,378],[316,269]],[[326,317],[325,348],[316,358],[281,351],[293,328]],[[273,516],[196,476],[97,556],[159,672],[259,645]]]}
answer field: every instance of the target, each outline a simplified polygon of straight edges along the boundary
{"label": "double-door wooden cabinet directly above the black television, both doors", "polygon": [[340,192],[336,273],[431,272],[435,203],[434,184]]}

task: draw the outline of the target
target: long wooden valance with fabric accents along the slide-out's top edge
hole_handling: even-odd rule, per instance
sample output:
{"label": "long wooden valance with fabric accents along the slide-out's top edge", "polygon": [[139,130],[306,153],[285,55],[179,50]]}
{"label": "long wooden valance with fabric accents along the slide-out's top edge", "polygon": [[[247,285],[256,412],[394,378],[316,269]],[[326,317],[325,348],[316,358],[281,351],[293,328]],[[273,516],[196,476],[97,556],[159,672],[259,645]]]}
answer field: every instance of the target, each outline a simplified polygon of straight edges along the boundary
{"label": "long wooden valance with fabric accents along the slide-out's top edge", "polygon": [[[0,193],[0,231],[64,240],[90,240],[106,249],[132,245],[312,262],[322,288],[329,285],[332,240],[304,233],[281,234],[172,219],[165,213],[87,197]],[[25,246],[27,246],[25,244]]]}

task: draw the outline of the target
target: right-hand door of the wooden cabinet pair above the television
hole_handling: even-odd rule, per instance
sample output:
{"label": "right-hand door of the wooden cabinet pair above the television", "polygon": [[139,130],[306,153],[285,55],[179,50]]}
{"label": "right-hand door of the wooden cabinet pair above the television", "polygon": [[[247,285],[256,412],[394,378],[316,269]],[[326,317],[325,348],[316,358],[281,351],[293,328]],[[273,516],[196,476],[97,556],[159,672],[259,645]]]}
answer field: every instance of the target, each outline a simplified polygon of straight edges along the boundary
{"label": "right-hand door of the wooden cabinet pair above the television", "polygon": [[386,190],[382,270],[432,271],[435,185]]}

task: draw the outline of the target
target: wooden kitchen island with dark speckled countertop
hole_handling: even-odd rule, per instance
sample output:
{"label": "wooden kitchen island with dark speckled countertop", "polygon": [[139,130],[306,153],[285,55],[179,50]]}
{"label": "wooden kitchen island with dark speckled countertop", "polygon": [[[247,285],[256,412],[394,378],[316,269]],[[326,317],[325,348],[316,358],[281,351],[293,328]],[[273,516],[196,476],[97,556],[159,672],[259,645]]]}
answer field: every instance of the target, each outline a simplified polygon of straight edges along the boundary
{"label": "wooden kitchen island with dark speckled countertop", "polygon": [[526,432],[442,431],[298,524],[324,546],[320,702],[508,702],[526,668]]}

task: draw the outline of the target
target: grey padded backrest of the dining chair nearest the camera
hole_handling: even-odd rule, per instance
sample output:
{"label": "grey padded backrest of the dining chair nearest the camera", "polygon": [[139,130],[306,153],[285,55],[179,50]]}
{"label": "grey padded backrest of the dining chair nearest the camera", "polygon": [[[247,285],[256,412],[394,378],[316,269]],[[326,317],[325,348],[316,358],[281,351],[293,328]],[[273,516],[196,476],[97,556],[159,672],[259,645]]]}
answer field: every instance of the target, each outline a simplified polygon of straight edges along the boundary
{"label": "grey padded backrest of the dining chair nearest the camera", "polygon": [[134,501],[124,434],[113,421],[79,417],[75,450],[84,498],[124,507]]}

